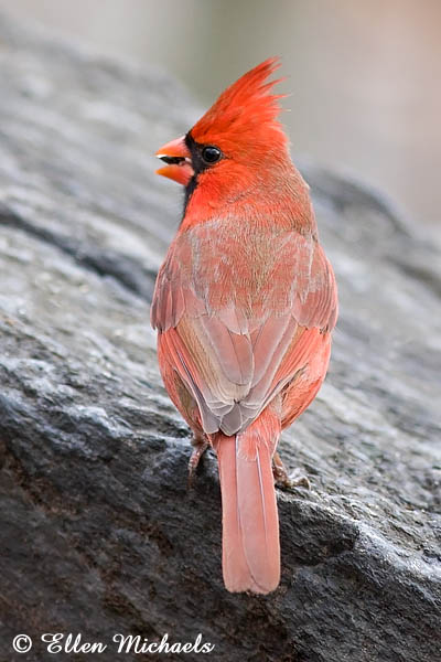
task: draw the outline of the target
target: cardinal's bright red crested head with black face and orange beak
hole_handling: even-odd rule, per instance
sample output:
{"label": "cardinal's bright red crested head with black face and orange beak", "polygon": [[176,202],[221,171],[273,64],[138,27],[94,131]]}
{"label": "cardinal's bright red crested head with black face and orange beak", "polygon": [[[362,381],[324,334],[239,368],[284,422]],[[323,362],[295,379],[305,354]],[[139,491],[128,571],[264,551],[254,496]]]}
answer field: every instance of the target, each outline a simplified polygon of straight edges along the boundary
{"label": "cardinal's bright red crested head with black face and orange beak", "polygon": [[271,171],[291,163],[288,140],[277,120],[278,100],[272,94],[279,81],[268,77],[278,58],[262,62],[222,93],[190,131],[158,150],[165,166],[157,172],[186,189],[186,201],[198,197],[235,200],[258,181],[271,181]]}

